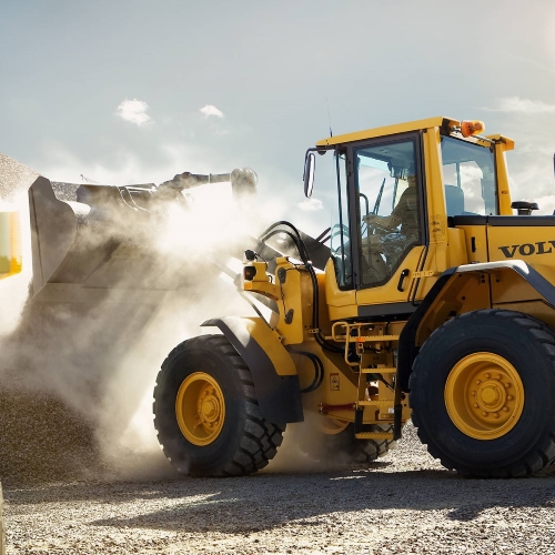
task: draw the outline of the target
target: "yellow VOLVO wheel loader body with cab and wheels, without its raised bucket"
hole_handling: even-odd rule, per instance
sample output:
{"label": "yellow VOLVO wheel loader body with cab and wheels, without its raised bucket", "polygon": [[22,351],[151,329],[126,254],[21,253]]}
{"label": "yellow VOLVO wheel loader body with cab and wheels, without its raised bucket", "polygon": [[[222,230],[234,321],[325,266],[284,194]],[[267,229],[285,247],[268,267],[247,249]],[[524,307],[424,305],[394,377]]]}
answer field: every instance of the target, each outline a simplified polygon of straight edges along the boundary
{"label": "yellow VOLVO wheel loader body with cab and wheels, without its raised bucket", "polygon": [[241,284],[266,312],[209,320],[220,334],[169,354],[153,410],[171,463],[249,474],[303,420],[323,456],[341,445],[371,460],[412,417],[460,474],[551,464],[555,216],[512,202],[513,148],[441,117],[309,149],[305,193],[325,184],[333,223],[317,240],[287,222],[266,230]]}

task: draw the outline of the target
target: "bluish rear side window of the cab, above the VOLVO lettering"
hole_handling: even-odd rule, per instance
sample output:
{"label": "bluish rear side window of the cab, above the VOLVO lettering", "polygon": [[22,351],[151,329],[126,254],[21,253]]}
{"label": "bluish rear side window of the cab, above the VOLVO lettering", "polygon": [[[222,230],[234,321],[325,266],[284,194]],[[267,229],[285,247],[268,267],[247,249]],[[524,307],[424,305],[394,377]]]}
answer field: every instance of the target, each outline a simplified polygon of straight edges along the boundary
{"label": "bluish rear side window of the cab, above the VOLVO lettering", "polygon": [[447,215],[496,215],[493,152],[453,137],[442,137],[443,184]]}

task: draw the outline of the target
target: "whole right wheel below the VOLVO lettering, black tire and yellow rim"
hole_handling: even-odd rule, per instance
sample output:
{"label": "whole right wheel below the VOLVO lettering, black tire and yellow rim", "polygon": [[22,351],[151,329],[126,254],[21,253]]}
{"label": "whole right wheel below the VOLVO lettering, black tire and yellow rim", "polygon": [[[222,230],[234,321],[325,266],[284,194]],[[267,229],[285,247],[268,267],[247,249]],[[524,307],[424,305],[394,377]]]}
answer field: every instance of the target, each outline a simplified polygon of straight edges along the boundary
{"label": "whole right wheel below the VOLVO lettering, black tire and yellow rim", "polygon": [[424,343],[412,418],[432,456],[461,474],[532,474],[555,460],[555,335],[518,312],[457,316]]}

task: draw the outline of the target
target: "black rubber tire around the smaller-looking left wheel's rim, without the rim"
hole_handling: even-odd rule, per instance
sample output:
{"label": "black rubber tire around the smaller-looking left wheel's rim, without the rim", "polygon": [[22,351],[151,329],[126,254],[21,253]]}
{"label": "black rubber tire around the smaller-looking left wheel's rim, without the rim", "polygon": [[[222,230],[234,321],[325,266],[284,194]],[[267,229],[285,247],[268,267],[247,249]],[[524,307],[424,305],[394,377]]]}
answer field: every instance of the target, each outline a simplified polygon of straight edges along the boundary
{"label": "black rubber tire around the smaller-looking left wheel's rim, without the rim", "polygon": [[[218,383],[225,403],[223,427],[206,445],[185,438],[175,408],[181,384],[199,372]],[[179,472],[192,476],[252,474],[275,456],[285,430],[285,424],[262,417],[251,372],[223,335],[186,340],[168,355],[158,374],[153,411],[165,456]]]}

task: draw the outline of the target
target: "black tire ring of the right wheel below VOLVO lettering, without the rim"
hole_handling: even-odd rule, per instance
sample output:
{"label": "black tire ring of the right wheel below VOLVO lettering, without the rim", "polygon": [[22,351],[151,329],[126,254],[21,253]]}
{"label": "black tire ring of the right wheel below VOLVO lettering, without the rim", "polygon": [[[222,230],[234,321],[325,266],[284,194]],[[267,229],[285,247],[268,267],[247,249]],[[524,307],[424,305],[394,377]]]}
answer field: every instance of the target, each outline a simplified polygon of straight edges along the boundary
{"label": "black tire ring of the right wheel below VOLVO lettering, without the rim", "polygon": [[[471,468],[511,465],[533,451],[544,433],[554,430],[553,362],[531,330],[519,325],[511,314],[514,313],[483,312],[454,319],[434,332],[415,361],[411,397],[418,416],[417,425],[425,430],[427,441],[457,465]],[[495,440],[467,436],[453,424],[445,406],[445,383],[452,369],[477,352],[506,359],[524,387],[524,407],[518,422]]]}

